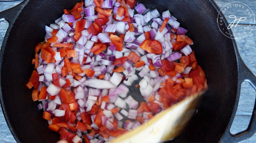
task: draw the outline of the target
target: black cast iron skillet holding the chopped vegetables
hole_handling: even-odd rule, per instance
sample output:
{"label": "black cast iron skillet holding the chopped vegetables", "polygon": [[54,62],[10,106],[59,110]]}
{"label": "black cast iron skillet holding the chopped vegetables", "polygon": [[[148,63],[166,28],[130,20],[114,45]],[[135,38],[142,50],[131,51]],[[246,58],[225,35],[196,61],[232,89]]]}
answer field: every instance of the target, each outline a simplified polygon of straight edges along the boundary
{"label": "black cast iron skillet holding the chopped vegetables", "polygon": [[[33,70],[34,47],[44,40],[45,25],[71,9],[78,1],[24,1],[1,12],[9,22],[1,48],[1,105],[17,142],[56,142],[59,134],[48,129],[25,86]],[[169,9],[194,40],[199,65],[205,71],[209,90],[203,95],[198,113],[184,133],[173,142],[239,142],[255,133],[255,105],[245,131],[232,135],[240,86],[248,81],[256,89],[255,75],[246,67],[233,39],[217,26],[219,9],[212,1],[140,1],[160,13]],[[222,16],[223,17],[223,16]],[[227,25],[226,20],[224,20]],[[231,31],[229,32],[231,33]]]}

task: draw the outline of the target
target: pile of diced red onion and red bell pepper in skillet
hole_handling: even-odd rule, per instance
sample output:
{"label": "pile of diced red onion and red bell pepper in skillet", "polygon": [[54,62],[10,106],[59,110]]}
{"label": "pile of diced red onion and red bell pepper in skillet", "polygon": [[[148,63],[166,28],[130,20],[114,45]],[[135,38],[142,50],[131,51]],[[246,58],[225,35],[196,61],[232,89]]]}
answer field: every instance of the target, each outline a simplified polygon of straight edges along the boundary
{"label": "pile of diced red onion and red bell pepper in skillet", "polygon": [[86,0],[63,11],[45,26],[26,84],[60,139],[111,141],[207,88],[193,41],[169,10],[160,16],[135,0]]}

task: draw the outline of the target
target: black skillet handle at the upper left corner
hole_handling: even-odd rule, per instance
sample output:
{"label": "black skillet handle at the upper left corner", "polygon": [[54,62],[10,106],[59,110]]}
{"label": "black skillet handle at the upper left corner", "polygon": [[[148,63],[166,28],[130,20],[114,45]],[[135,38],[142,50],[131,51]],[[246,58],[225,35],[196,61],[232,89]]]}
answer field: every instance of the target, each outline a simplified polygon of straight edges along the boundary
{"label": "black skillet handle at the upper left corner", "polygon": [[0,22],[2,22],[3,20],[7,20],[9,23],[9,27],[12,26],[17,16],[20,14],[21,10],[27,3],[28,1],[24,0],[17,6],[0,12]]}

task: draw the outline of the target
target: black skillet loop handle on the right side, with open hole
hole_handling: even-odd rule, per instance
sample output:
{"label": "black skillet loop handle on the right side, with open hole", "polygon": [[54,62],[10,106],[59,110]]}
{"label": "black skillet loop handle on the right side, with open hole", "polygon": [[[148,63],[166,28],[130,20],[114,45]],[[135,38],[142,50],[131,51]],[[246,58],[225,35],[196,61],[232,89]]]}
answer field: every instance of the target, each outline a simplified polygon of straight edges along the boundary
{"label": "black skillet loop handle on the right side, with open hole", "polygon": [[248,69],[248,67],[245,65],[245,63],[242,61],[240,55],[238,54],[238,91],[236,93],[236,102],[235,102],[235,110],[233,111],[233,117],[231,118],[231,122],[228,124],[228,127],[220,140],[220,142],[241,142],[244,141],[251,136],[253,136],[256,132],[256,98],[254,102],[254,109],[253,113],[251,115],[250,123],[244,131],[241,131],[236,134],[231,134],[230,133],[230,127],[233,123],[234,120],[234,115],[236,113],[236,108],[238,106],[238,101],[239,101],[239,96],[240,96],[240,89],[241,89],[241,83],[243,81],[247,81],[251,84],[251,86],[254,88],[256,91],[256,77],[255,75]]}

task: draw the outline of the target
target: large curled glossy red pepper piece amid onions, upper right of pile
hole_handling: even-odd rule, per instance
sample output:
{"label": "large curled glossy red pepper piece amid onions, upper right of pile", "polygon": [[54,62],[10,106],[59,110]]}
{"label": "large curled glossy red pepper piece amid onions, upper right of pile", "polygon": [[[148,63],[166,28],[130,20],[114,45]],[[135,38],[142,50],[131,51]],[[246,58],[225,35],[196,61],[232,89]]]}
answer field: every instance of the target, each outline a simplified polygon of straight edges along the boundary
{"label": "large curled glossy red pepper piece amid onions, upper right of pile", "polygon": [[163,53],[163,48],[161,43],[156,40],[145,39],[141,43],[140,48],[142,48],[143,50],[146,50],[148,53],[154,53],[154,54]]}

